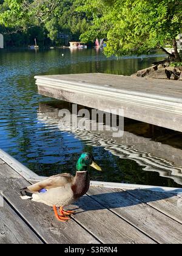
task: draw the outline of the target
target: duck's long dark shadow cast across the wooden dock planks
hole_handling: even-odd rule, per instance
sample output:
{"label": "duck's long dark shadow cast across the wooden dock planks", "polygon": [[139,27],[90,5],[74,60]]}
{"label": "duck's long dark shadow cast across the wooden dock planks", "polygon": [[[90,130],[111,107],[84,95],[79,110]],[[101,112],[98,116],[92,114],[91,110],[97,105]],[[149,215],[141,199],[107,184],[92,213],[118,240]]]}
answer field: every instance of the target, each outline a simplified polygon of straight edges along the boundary
{"label": "duck's long dark shadow cast across the wooden dock planks", "polygon": [[[141,205],[148,204],[150,202],[157,202],[161,200],[166,200],[171,197],[174,197],[174,194],[177,190],[170,190],[170,193],[166,193],[166,190],[161,188],[161,192],[151,191],[151,190],[127,190],[127,191],[113,191],[112,193],[100,193],[100,194],[92,194],[95,192],[99,193],[99,187],[90,187],[89,197],[91,197],[94,201],[98,202],[98,204],[89,204],[88,197],[84,196],[75,202],[75,210],[78,210],[76,214],[87,212],[87,211],[95,211],[102,209],[116,209],[125,207],[132,207],[133,205]],[[117,190],[117,189],[113,189]],[[107,191],[107,188],[104,188],[104,191]],[[182,198],[179,197],[178,203],[182,204]],[[81,210],[79,210],[79,208]],[[73,209],[74,210],[74,209]]]}

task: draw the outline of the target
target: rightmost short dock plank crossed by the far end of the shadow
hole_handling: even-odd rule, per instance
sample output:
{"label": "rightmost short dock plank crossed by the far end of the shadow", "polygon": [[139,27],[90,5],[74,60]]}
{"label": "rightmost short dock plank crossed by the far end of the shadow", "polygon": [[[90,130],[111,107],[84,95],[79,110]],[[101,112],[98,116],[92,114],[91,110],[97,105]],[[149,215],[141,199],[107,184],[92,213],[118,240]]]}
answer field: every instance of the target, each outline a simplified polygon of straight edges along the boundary
{"label": "rightmost short dock plank crossed by the far end of the shadow", "polygon": [[180,197],[149,190],[130,190],[129,193],[182,224],[182,199]]}

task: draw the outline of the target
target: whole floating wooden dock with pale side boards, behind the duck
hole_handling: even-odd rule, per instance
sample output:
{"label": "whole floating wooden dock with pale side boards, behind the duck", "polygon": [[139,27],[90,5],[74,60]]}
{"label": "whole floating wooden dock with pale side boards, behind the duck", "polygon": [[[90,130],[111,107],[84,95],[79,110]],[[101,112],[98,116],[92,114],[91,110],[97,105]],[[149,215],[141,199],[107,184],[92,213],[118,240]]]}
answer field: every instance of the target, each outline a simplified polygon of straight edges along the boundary
{"label": "whole floating wooden dock with pale side boards, behind the duck", "polygon": [[35,79],[44,96],[101,111],[121,108],[127,118],[182,132],[181,81],[101,73]]}

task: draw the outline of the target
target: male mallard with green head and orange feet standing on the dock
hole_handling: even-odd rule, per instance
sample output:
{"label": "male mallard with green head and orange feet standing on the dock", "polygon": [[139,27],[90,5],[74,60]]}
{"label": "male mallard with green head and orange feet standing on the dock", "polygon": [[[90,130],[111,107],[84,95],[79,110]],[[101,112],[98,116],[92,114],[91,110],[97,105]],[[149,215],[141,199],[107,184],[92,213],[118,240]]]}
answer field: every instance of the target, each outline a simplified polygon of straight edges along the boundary
{"label": "male mallard with green head and orange feet standing on the dock", "polygon": [[[32,199],[32,201],[53,207],[56,218],[65,222],[74,212],[63,210],[63,207],[72,204],[89,190],[88,166],[101,171],[101,168],[94,162],[92,154],[83,153],[76,164],[75,177],[69,173],[51,176],[27,188],[22,188],[21,198]],[[58,215],[57,207],[59,207],[60,215]]]}

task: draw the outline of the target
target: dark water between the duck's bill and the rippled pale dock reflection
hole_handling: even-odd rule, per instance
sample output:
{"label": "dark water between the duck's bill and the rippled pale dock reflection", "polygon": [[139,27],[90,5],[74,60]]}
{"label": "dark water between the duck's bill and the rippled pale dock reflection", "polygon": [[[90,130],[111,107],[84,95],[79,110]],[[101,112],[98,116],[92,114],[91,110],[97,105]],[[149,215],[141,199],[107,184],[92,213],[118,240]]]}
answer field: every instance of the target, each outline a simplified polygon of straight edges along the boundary
{"label": "dark water between the duck's bill and the rippled pale dock reflection", "polygon": [[[157,171],[144,171],[144,166],[138,165],[134,160],[103,154],[102,151],[105,151],[104,148],[98,150],[101,152],[99,164],[104,171],[102,173],[91,171],[92,180],[181,188],[181,185],[174,180],[159,176]],[[94,154],[93,148],[88,152]]]}

